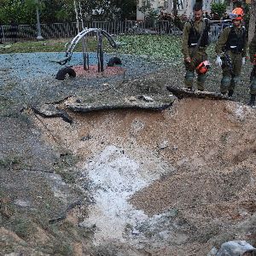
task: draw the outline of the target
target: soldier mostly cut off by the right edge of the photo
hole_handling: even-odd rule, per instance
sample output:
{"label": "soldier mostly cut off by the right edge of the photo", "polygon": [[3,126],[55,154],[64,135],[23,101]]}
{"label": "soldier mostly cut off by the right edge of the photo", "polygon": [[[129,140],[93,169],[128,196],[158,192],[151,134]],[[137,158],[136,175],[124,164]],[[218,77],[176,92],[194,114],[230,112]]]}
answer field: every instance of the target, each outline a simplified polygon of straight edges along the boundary
{"label": "soldier mostly cut off by the right edge of the photo", "polygon": [[251,73],[251,87],[250,94],[251,99],[249,102],[250,106],[255,105],[255,96],[256,96],[256,33],[252,39],[251,44],[249,45],[250,61],[253,63],[253,71]]}

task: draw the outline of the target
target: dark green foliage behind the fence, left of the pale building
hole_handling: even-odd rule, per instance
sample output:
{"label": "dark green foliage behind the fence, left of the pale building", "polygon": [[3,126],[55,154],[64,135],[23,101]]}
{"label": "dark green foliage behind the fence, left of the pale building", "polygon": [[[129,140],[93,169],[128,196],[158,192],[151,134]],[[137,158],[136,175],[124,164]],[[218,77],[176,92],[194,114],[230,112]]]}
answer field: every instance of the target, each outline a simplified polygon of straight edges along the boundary
{"label": "dark green foliage behind the fence, left of the pale building", "polygon": [[[136,17],[136,0],[81,0],[83,20],[125,20]],[[35,24],[36,7],[41,23],[75,20],[73,0],[0,0],[0,23]],[[80,13],[80,9],[79,9]]]}

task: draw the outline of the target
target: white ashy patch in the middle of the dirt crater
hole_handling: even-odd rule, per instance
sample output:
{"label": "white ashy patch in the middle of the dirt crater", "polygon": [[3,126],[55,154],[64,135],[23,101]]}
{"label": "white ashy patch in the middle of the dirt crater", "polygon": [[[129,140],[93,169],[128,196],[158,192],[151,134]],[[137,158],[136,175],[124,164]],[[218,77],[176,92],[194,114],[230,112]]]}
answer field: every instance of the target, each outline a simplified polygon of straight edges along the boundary
{"label": "white ashy patch in the middle of the dirt crater", "polygon": [[[134,154],[134,151],[126,154],[121,148],[110,145],[84,166],[84,172],[93,183],[91,192],[96,204],[90,206],[89,217],[82,225],[96,225],[96,244],[125,241],[127,225],[135,227],[149,219],[128,200],[135,192],[160,178],[166,168],[153,154],[148,157],[145,149],[140,148],[139,159]],[[131,234],[137,236],[136,230],[131,230]]]}

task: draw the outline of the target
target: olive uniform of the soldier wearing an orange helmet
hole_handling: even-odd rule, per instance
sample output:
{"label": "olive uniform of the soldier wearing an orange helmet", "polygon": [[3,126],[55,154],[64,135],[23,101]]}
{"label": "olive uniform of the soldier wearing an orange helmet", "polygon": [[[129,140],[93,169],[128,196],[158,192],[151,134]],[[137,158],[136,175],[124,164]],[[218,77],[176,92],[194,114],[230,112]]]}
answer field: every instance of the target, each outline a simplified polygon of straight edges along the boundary
{"label": "olive uniform of the soldier wearing an orange helmet", "polygon": [[[229,36],[231,30],[235,29],[237,38],[244,38],[244,43],[242,49],[232,50],[225,49],[226,45],[229,44]],[[241,41],[240,41],[241,42]],[[241,74],[241,64],[242,58],[246,56],[247,43],[245,40],[245,28],[244,27],[236,27],[236,26],[228,26],[224,28],[224,31],[221,33],[218,38],[218,42],[215,46],[215,51],[217,55],[220,55],[221,52],[225,51],[226,55],[230,56],[230,61],[232,63],[232,70],[227,63],[227,61],[223,59],[222,71],[223,78],[221,79],[220,91],[222,93],[226,93],[227,91],[234,91],[236,84],[239,82],[239,76]]]}

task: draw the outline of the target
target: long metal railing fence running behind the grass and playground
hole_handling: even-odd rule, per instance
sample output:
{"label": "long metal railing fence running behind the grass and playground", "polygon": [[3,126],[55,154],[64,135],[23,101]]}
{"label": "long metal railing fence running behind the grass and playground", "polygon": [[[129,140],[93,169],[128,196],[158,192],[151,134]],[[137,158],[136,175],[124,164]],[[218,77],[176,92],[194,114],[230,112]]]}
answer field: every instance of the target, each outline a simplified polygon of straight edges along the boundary
{"label": "long metal railing fence running behind the grass and playground", "polygon": [[[169,20],[159,21],[84,21],[84,27],[102,28],[110,34],[167,34],[181,35],[182,31]],[[73,38],[78,34],[77,23],[52,23],[41,25],[42,36],[49,38]],[[82,24],[79,24],[79,31]],[[219,32],[223,30],[221,24],[211,25],[212,42],[216,42]],[[18,42],[36,40],[36,25],[0,26],[0,42]]]}

